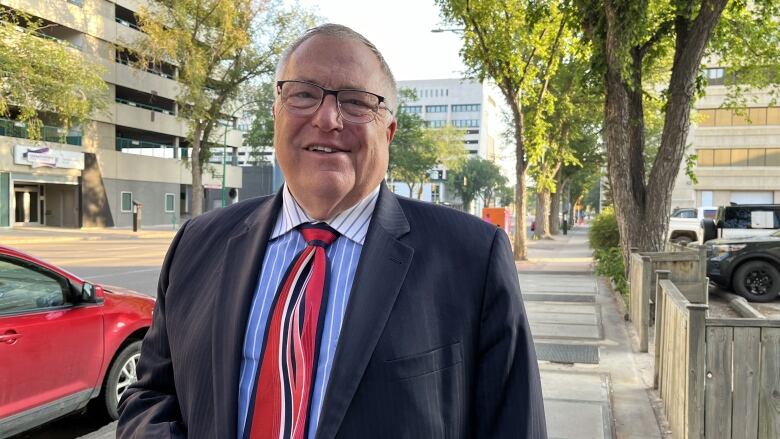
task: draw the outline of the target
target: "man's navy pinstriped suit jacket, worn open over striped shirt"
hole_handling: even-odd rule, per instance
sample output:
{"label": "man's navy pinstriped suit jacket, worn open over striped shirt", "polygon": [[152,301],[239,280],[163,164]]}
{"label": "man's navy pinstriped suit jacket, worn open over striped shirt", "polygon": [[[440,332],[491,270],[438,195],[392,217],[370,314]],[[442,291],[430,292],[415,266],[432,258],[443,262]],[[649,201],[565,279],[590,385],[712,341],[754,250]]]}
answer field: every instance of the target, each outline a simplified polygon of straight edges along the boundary
{"label": "man's navy pinstriped suit jacket, worn open over striped shirt", "polygon": [[[182,226],[118,438],[236,438],[244,333],[281,199],[246,200]],[[547,437],[502,230],[382,184],[316,437]]]}

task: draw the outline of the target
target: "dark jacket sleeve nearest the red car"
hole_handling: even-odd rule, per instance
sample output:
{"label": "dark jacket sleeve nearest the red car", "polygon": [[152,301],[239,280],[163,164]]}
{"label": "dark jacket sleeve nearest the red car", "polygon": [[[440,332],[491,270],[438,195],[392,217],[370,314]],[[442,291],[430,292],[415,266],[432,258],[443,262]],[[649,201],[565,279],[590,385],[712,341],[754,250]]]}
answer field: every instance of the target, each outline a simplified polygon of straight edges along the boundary
{"label": "dark jacket sleeve nearest the red car", "polygon": [[160,270],[152,326],[144,337],[138,362],[138,381],[119,403],[117,439],[187,437],[173,380],[165,315],[169,270],[187,224],[176,234]]}

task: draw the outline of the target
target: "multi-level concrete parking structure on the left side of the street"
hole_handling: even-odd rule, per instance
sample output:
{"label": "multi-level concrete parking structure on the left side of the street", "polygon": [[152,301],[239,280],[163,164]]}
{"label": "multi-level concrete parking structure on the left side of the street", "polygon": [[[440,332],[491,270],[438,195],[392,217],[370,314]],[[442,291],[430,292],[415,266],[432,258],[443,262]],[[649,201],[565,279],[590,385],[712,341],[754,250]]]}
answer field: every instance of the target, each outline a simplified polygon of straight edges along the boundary
{"label": "multi-level concrete parking structure on the left side of the street", "polygon": [[[0,119],[0,227],[47,225],[110,227],[132,224],[133,202],[143,224],[180,222],[190,211],[187,122],[177,118],[179,67],[133,66],[127,50],[143,38],[134,11],[146,0],[0,0],[46,25],[41,33],[105,68],[107,111],[68,133],[46,127],[42,141]],[[237,120],[227,120],[228,147],[242,145]],[[217,131],[221,131],[220,128]],[[221,195],[222,169],[203,174],[206,208]],[[237,194],[242,173],[226,167],[225,185]],[[236,195],[237,198],[237,195]]]}

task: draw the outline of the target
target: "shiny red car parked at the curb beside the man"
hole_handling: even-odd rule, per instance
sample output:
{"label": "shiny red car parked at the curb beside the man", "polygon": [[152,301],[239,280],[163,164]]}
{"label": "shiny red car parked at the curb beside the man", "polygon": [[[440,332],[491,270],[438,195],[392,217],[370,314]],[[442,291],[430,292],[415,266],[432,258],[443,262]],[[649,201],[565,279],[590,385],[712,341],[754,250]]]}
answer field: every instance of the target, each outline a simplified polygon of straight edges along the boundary
{"label": "shiny red car parked at the curb beside the man", "polygon": [[153,307],[0,246],[0,439],[96,398],[116,419]]}

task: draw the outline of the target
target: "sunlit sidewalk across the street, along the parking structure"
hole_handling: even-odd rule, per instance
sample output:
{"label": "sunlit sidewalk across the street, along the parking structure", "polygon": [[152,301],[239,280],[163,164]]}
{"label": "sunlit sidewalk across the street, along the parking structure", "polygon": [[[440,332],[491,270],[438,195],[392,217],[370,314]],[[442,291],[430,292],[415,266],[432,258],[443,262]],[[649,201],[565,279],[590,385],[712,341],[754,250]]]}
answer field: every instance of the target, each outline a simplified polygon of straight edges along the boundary
{"label": "sunlit sidewalk across the street, along the parking structure", "polygon": [[171,239],[176,234],[172,226],[146,226],[138,232],[128,227],[94,227],[67,229],[62,227],[22,226],[0,228],[0,245],[47,244],[54,242],[97,241],[103,239]]}

